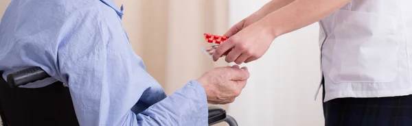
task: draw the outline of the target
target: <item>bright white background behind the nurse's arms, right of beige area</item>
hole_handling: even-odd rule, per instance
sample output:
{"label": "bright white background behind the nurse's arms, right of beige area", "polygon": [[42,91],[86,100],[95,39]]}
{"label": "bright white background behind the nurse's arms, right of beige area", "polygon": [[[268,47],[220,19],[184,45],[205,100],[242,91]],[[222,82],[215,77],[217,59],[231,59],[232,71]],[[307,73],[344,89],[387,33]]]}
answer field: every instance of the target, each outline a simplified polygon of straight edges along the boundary
{"label": "bright white background behind the nurse's arms, right of beige area", "polygon": [[[249,16],[270,0],[229,0],[229,25]],[[229,114],[239,125],[321,126],[319,25],[314,23],[273,42],[260,60],[245,64],[251,78]]]}

